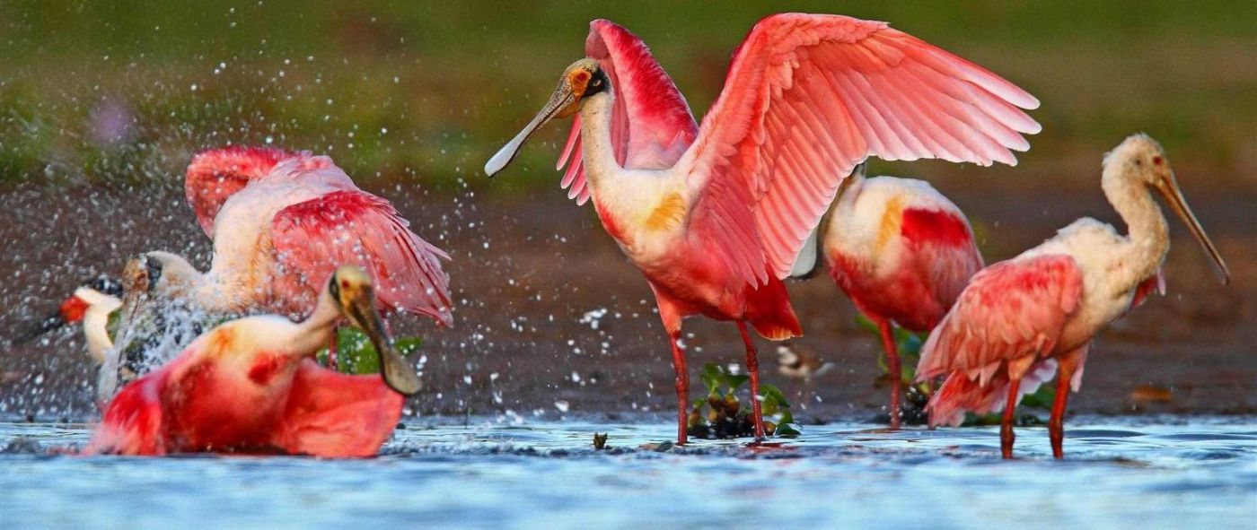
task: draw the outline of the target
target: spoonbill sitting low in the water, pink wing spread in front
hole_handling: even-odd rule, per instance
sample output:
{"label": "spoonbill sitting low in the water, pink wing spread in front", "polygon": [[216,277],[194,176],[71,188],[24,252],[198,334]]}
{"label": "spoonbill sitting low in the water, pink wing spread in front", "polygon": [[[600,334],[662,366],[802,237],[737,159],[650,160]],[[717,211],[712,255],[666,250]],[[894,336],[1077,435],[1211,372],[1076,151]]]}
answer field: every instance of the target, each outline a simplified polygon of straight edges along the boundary
{"label": "spoonbill sitting low in the water, pink wing spread in front", "polygon": [[[371,338],[381,377],[339,374],[312,359],[342,318]],[[383,330],[371,278],[341,266],[304,322],[279,315],[229,322],[128,384],[106,408],[87,453],[370,456],[397,425],[402,394],[420,386]]]}

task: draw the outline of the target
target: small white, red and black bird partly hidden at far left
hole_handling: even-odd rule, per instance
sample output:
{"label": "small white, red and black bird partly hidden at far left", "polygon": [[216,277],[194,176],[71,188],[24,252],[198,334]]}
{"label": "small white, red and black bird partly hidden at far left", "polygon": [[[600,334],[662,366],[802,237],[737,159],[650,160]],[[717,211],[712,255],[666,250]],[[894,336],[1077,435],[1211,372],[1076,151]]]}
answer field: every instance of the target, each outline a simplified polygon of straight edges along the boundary
{"label": "small white, red and black bird partly hidden at far left", "polygon": [[122,284],[117,280],[98,276],[85,281],[74,294],[62,301],[57,313],[45,316],[29,332],[21,334],[14,343],[21,344],[63,328],[83,323],[83,338],[87,339],[87,353],[96,364],[104,362],[104,353],[113,347],[109,339],[109,315],[122,306]]}

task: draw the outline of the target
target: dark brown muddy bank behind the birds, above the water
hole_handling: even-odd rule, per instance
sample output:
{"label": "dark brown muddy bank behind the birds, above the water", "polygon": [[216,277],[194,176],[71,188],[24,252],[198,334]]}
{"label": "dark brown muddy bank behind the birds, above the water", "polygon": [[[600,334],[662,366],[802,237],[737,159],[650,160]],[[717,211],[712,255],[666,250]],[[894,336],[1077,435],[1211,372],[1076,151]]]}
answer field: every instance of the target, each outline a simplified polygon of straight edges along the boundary
{"label": "dark brown muddy bank behind the birds, above the water", "polygon": [[[1082,215],[1112,221],[1099,190],[1046,185],[935,182],[974,220],[988,262],[1016,255]],[[427,388],[410,403],[424,416],[564,413],[616,418],[674,408],[672,369],[654,300],[639,273],[607,237],[592,208],[558,190],[510,197],[491,190],[459,195],[403,186],[372,188],[445,247],[455,327],[393,319],[420,334]],[[998,197],[992,197],[993,195]],[[997,200],[994,200],[997,198]],[[1222,288],[1180,227],[1166,261],[1168,295],[1154,298],[1105,332],[1092,349],[1075,413],[1257,413],[1257,197],[1208,190],[1189,200],[1232,264]],[[207,265],[207,241],[180,190],[30,188],[0,192],[0,414],[57,421],[91,417],[91,367],[73,334],[11,345],[31,319],[55,306],[96,271],[121,269],[123,256],[165,249]],[[875,337],[827,275],[789,284],[806,337],[798,343],[835,364],[808,382],[777,373],[774,345],[759,340],[764,381],[796,398],[802,422],[866,418],[884,407],[875,387]],[[739,362],[728,323],[685,323],[691,374],[706,362]],[[696,377],[691,393],[703,392]],[[1164,391],[1164,392],[1163,392]],[[799,399],[802,397],[802,399]]]}

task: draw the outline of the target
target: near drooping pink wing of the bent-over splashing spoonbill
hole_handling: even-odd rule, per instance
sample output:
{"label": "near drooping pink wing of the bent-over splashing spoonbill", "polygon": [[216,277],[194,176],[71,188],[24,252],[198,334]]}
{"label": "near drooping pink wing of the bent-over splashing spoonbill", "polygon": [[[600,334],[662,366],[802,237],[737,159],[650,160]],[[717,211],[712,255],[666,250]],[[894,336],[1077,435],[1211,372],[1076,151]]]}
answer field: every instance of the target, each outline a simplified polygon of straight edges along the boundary
{"label": "near drooping pink wing of the bent-over splashing spoonbill", "polygon": [[[449,325],[449,279],[441,249],[420,239],[388,201],[342,190],[292,205],[272,221],[270,237],[284,274],[284,299],[309,298],[341,265],[361,265],[386,309],[429,315]],[[310,306],[313,306],[310,304]]]}

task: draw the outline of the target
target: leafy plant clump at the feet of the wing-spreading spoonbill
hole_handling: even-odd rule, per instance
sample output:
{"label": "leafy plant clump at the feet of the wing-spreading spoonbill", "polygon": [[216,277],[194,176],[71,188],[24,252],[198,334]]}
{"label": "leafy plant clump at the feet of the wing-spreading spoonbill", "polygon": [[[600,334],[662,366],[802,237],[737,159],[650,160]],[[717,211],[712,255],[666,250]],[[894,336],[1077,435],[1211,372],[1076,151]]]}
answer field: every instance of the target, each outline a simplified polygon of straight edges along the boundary
{"label": "leafy plant clump at the feet of the wing-spreading spoonbill", "polygon": [[[706,363],[699,378],[708,388],[708,394],[695,399],[690,408],[686,427],[689,436],[708,440],[755,436],[750,406],[743,406],[737,396],[738,388],[750,377],[732,373],[716,363]],[[799,435],[789,402],[779,388],[767,383],[759,384],[759,401],[764,413],[764,431],[768,435],[788,438]]]}

